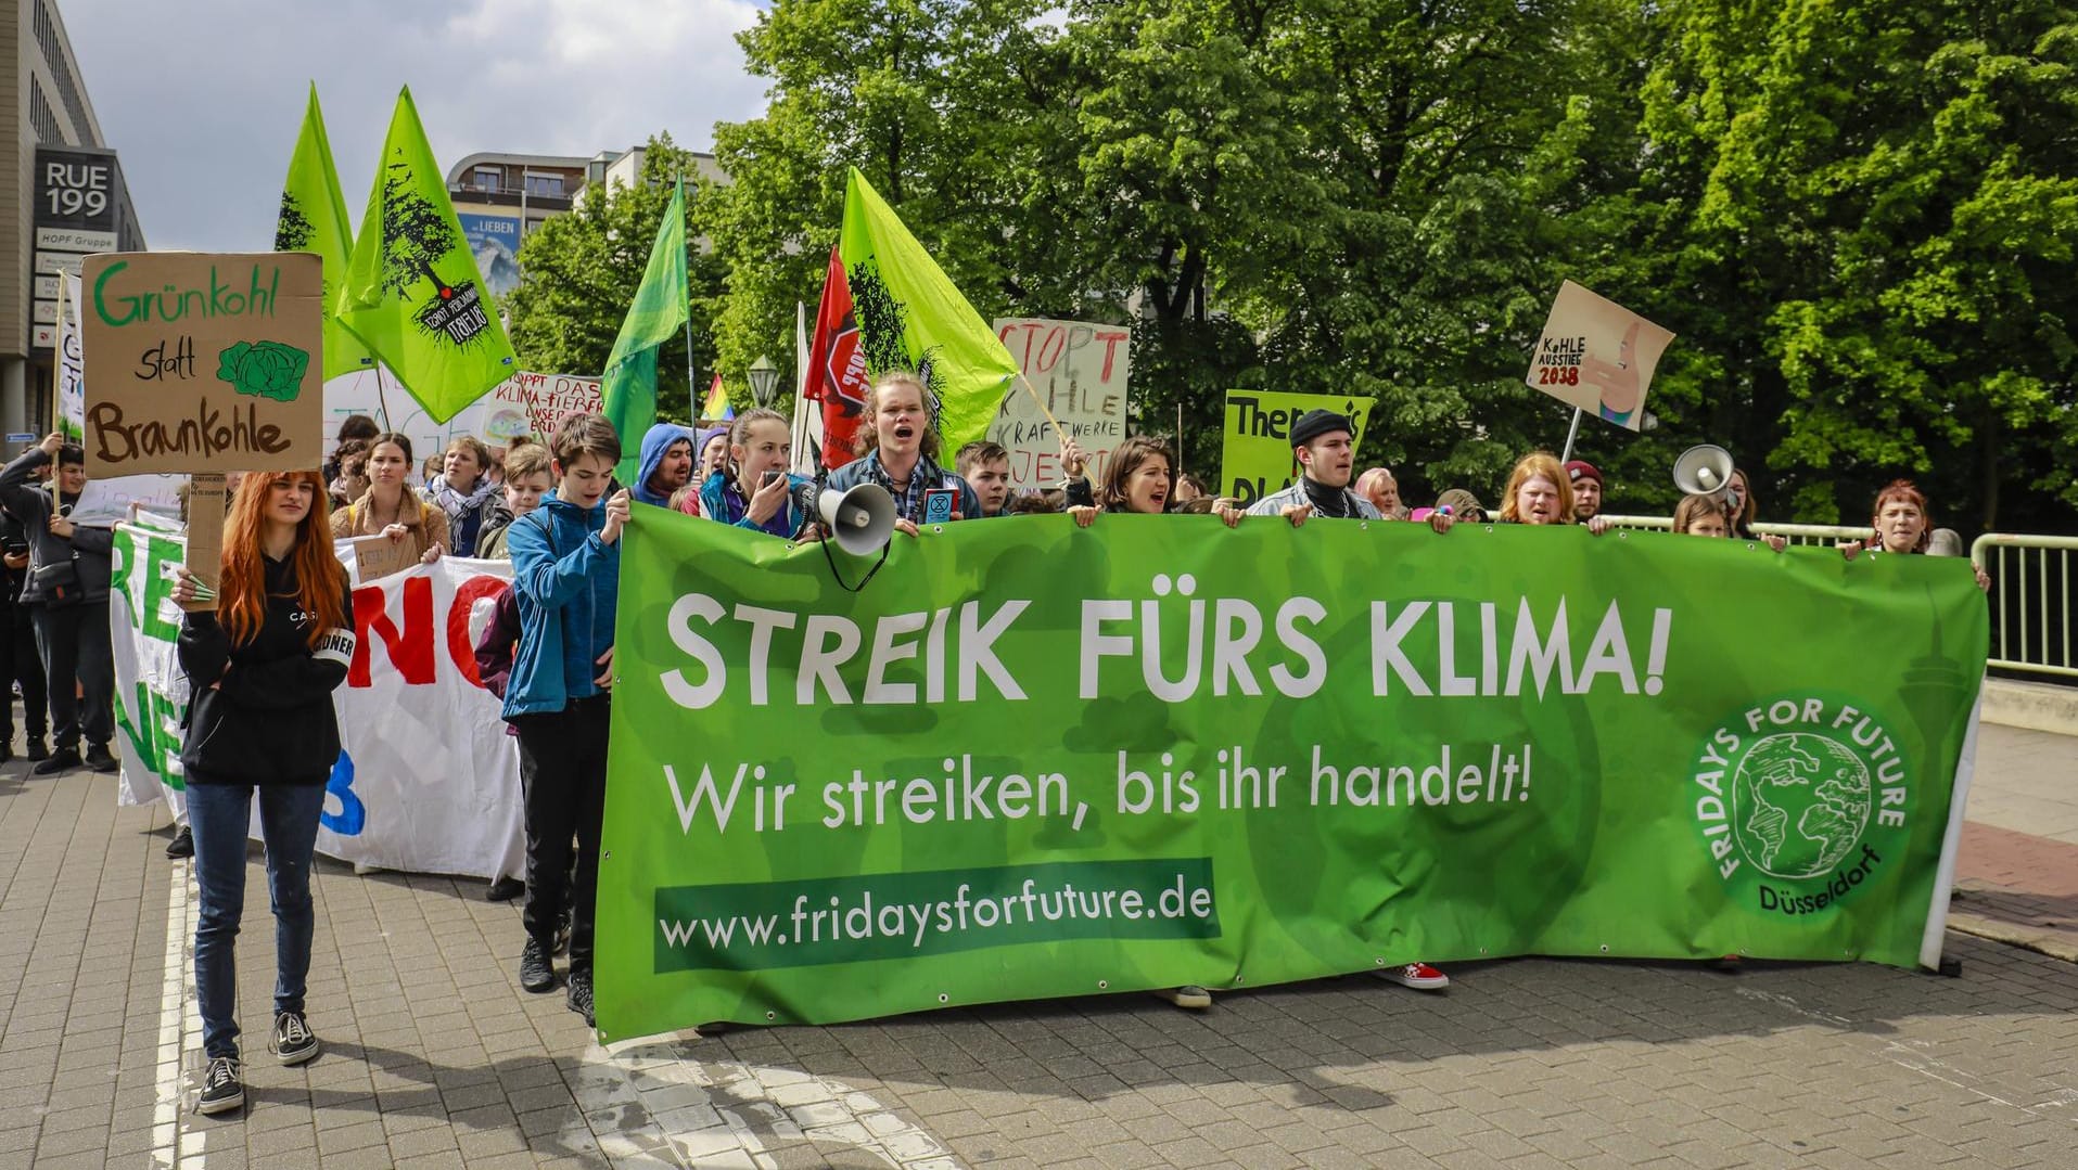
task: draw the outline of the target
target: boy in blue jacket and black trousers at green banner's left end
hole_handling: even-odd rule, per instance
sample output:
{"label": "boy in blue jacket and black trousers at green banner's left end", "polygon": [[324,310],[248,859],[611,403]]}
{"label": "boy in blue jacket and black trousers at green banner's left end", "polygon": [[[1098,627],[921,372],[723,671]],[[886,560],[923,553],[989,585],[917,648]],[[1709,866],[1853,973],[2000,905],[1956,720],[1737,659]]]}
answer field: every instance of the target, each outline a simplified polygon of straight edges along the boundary
{"label": "boy in blue jacket and black trousers at green banner's left end", "polygon": [[[598,833],[607,810],[607,688],[628,490],[613,493],[621,441],[596,414],[563,420],[549,443],[555,495],[505,534],[520,601],[520,648],[505,721],[520,732],[526,790],[526,948],[520,985],[555,989],[555,929],[571,908],[569,1010],[592,1016]],[[569,879],[571,837],[578,846]]]}

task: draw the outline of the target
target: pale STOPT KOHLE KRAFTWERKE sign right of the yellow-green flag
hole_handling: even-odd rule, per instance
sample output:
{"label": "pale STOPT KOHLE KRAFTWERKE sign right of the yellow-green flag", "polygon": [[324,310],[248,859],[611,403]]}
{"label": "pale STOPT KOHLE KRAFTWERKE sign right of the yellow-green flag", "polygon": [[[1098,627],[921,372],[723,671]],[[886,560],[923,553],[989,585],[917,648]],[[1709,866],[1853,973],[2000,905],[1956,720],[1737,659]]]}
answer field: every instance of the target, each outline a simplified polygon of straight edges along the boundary
{"label": "pale STOPT KOHLE KRAFTWERKE sign right of the yellow-green flag", "polygon": [[1089,455],[1095,482],[1112,449],[1126,441],[1133,330],[1085,320],[1000,318],[995,337],[1031,382],[1031,391],[1016,384],[1004,391],[1004,405],[989,424],[989,441],[1010,451],[1010,486],[1049,488],[1062,480],[1060,436],[1045,411],[1054,411]]}

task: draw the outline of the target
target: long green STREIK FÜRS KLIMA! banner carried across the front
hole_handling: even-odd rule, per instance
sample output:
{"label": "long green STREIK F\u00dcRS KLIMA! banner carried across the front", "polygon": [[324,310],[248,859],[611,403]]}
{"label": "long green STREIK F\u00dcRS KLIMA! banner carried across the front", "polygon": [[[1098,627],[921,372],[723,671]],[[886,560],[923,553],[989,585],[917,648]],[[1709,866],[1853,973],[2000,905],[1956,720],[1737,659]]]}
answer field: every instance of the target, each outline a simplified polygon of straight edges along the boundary
{"label": "long green STREIK F\u00dcRS KLIMA! banner carried across the front", "polygon": [[898,536],[852,594],[817,547],[638,507],[598,1025],[1930,964],[1984,650],[1960,559],[1031,517]]}

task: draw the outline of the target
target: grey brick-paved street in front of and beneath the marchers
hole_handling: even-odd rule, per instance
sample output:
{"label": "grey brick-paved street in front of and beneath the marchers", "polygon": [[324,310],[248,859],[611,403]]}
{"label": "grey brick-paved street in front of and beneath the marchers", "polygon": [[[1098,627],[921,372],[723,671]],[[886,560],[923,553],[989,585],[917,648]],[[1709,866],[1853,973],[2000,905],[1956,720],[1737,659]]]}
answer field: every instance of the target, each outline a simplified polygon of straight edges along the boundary
{"label": "grey brick-paved street in front of and beneath the marchers", "polygon": [[1444,995],[1338,979],[1207,1014],[1114,995],[607,1056],[559,995],[517,989],[517,910],[482,883],[324,862],[326,1054],[281,1068],[258,852],[251,1103],[206,1120],[172,1099],[199,1058],[164,840],[112,777],[0,769],[0,954],[21,975],[0,989],[0,1170],[2055,1168],[2078,1149],[2078,966],[1964,935],[1960,979],[1513,960],[1455,966]]}

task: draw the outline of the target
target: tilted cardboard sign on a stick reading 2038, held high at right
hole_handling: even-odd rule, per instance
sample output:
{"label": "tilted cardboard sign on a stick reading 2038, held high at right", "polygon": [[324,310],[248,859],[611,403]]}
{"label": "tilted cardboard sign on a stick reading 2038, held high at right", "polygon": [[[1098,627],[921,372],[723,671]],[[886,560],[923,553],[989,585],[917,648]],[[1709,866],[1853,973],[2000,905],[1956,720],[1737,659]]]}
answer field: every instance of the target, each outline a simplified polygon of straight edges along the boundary
{"label": "tilted cardboard sign on a stick reading 2038, held high at right", "polygon": [[1602,422],[1637,430],[1646,387],[1675,339],[1631,310],[1567,281],[1544,320],[1523,382]]}

